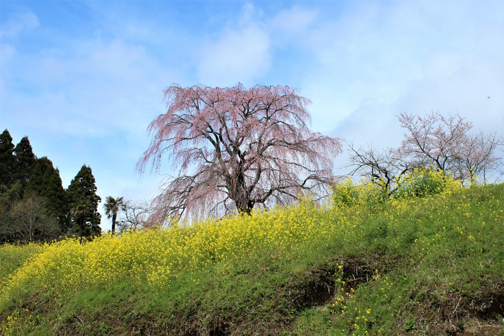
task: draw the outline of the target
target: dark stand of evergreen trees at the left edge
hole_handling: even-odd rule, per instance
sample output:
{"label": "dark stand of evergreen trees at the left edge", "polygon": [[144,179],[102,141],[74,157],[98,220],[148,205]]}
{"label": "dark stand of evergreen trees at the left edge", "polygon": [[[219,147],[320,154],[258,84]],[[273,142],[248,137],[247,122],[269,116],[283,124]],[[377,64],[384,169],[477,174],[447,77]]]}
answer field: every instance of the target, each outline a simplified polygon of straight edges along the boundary
{"label": "dark stand of evergreen trees at the left edge", "polygon": [[100,235],[100,201],[89,166],[65,189],[58,168],[37,158],[28,137],[14,146],[7,129],[0,135],[0,243]]}

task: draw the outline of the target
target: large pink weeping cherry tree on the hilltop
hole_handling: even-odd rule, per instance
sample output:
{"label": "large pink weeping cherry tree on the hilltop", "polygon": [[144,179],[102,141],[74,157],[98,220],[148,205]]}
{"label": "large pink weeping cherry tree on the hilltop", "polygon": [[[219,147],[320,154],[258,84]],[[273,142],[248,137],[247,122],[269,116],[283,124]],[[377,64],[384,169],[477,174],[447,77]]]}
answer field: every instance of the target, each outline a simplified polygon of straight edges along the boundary
{"label": "large pink weeping cherry tree on the hilltop", "polygon": [[159,172],[167,155],[178,176],[153,200],[151,221],[250,214],[306,192],[322,197],[331,184],[341,141],[308,128],[310,101],[296,89],[172,85],[164,97],[167,111],[149,125],[153,138],[137,168]]}

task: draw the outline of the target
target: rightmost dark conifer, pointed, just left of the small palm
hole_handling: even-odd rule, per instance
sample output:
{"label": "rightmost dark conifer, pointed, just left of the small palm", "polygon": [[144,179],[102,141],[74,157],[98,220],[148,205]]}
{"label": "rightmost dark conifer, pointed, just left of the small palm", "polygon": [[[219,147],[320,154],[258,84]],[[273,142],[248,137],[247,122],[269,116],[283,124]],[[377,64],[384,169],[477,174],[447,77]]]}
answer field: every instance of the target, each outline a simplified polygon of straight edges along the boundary
{"label": "rightmost dark conifer, pointed, just left of the small palm", "polygon": [[98,213],[101,197],[96,194],[96,189],[91,168],[86,165],[82,166],[67,189],[72,223],[81,237],[101,233],[101,215]]}

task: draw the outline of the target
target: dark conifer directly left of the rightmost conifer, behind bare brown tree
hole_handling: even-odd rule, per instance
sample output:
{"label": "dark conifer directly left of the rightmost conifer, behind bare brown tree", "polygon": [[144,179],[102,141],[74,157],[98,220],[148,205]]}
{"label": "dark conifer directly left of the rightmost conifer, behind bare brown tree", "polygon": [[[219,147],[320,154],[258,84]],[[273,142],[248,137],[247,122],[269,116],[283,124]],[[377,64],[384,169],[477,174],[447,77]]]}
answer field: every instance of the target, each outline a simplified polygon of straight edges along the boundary
{"label": "dark conifer directly left of the rightmost conifer, behind bare brown tree", "polygon": [[25,189],[25,195],[36,193],[46,198],[47,210],[54,215],[62,233],[68,231],[68,202],[66,191],[62,186],[59,170],[52,165],[47,157],[37,159]]}

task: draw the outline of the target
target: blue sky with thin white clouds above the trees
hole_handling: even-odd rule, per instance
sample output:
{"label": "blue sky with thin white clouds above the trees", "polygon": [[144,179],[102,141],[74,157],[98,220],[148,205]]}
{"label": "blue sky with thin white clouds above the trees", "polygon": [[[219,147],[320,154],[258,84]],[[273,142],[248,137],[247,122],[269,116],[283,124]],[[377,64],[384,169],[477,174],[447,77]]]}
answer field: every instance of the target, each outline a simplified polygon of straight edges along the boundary
{"label": "blue sky with thin white clouds above the trees", "polygon": [[89,165],[103,199],[156,194],[161,178],[135,164],[172,83],[297,87],[314,130],[377,148],[400,144],[400,112],[504,133],[500,0],[2,0],[0,28],[0,127],[64,187]]}

